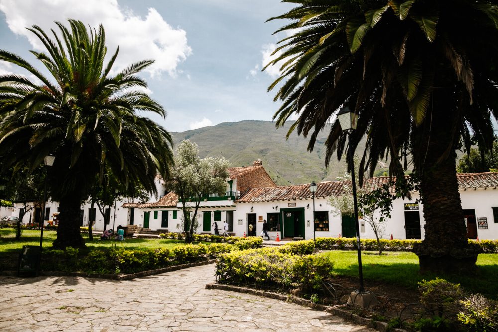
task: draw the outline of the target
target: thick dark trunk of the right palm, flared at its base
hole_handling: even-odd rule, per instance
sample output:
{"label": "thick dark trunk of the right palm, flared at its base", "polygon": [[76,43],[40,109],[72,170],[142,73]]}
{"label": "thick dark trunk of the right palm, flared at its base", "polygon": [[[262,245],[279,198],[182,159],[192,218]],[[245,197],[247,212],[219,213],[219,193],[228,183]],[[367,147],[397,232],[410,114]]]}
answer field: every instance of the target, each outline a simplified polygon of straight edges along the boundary
{"label": "thick dark trunk of the right palm, flared at its base", "polygon": [[[441,114],[442,113],[442,114]],[[468,244],[456,176],[456,153],[451,142],[451,117],[444,111],[434,116],[434,128],[419,151],[420,192],[424,205],[425,239],[414,246],[421,272],[469,272],[475,269],[479,248]],[[446,121],[446,123],[444,123]],[[434,165],[428,167],[427,165]]]}

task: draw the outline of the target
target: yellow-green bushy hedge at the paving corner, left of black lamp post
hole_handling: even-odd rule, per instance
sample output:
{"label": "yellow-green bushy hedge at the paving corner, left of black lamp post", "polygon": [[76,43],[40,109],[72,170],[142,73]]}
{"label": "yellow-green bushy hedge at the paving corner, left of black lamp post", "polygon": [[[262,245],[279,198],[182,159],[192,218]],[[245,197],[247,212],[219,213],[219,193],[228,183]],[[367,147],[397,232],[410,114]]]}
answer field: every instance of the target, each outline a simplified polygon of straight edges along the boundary
{"label": "yellow-green bushy hedge at the paving corner, left of black lamp post", "polygon": [[220,281],[256,283],[304,290],[321,287],[333,270],[323,255],[296,255],[283,247],[232,251],[218,257],[216,275]]}

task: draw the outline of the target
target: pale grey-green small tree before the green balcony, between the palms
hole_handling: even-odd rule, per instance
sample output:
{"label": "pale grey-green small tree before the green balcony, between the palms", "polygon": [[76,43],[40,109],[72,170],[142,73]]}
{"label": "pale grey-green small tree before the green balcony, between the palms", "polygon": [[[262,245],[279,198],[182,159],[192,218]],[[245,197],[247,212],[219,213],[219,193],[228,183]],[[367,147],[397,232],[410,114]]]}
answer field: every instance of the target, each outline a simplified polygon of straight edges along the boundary
{"label": "pale grey-green small tree before the green balcony, between the palms", "polygon": [[224,157],[201,159],[197,144],[184,140],[178,145],[174,165],[169,187],[182,204],[185,242],[190,243],[197,230],[197,211],[203,199],[211,193],[225,193],[230,163]]}

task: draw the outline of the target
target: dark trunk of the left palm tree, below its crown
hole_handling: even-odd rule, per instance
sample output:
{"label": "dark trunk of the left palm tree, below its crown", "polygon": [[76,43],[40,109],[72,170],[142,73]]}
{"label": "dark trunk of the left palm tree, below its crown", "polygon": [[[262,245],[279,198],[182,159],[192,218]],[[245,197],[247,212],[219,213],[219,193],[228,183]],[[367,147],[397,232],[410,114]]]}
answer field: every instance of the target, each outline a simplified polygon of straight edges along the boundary
{"label": "dark trunk of the left palm tree, below its crown", "polygon": [[85,247],[85,241],[80,234],[80,209],[78,193],[68,193],[60,199],[60,221],[57,227],[57,238],[53,243],[54,248]]}

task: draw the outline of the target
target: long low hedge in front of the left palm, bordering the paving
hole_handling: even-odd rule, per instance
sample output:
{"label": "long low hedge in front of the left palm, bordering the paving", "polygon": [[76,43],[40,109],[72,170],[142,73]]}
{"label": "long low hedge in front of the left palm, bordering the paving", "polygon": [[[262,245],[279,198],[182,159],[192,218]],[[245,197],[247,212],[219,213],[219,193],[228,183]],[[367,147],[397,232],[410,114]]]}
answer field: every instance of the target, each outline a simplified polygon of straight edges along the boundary
{"label": "long low hedge in front of the left palm, bordering the paving", "polygon": [[187,244],[172,249],[44,249],[42,270],[100,274],[135,273],[216,258],[223,253],[261,247],[260,238],[230,243]]}

